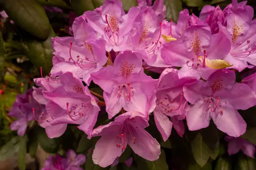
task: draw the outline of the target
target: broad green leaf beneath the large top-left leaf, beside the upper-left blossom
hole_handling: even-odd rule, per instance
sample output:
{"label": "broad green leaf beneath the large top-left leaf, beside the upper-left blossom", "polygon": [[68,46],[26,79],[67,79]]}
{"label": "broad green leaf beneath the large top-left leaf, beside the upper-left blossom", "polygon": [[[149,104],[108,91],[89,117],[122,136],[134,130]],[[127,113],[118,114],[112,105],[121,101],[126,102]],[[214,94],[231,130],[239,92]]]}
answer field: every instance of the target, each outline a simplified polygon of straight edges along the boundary
{"label": "broad green leaf beneath the large top-left leaf, beside the upper-left blossom", "polygon": [[27,56],[38,69],[42,67],[44,75],[48,75],[52,68],[52,37],[55,37],[55,33],[51,28],[47,40],[30,39],[27,41]]}

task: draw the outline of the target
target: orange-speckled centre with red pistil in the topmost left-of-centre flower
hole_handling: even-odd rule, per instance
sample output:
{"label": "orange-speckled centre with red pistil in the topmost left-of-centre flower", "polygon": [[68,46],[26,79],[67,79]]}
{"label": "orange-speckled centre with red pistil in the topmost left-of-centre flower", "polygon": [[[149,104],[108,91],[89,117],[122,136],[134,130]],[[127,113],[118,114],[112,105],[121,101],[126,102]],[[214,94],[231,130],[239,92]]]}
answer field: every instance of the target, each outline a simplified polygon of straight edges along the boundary
{"label": "orange-speckled centre with red pistil in the topmost left-of-centre flower", "polygon": [[119,27],[118,18],[116,15],[105,15],[107,26],[104,28],[105,37],[108,42],[117,46],[119,43]]}

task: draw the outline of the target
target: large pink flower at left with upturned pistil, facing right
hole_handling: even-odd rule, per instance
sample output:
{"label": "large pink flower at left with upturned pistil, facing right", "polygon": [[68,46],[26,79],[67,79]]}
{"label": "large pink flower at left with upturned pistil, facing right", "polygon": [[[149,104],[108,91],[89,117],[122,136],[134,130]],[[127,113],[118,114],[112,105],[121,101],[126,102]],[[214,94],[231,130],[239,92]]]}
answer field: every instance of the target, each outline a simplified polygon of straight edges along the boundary
{"label": "large pink flower at left with upturned pistil, facing right", "polygon": [[[66,72],[59,77],[61,87],[43,92],[44,97],[51,101],[46,105],[49,116],[54,118],[50,125],[66,124],[64,128],[67,124],[79,124],[79,129],[90,135],[100,110],[98,99],[72,73]],[[47,121],[47,118],[43,120]]]}

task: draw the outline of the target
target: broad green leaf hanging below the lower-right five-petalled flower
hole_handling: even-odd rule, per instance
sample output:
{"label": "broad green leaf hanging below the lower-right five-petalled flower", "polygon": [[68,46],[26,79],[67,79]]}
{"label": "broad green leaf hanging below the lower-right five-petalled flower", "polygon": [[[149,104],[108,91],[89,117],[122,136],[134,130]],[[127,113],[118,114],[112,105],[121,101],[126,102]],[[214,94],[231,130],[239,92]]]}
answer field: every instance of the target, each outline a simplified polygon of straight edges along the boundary
{"label": "broad green leaf hanging below the lower-right five-petalled flower", "polygon": [[209,157],[215,159],[218,156],[219,139],[215,125],[211,124],[209,127],[198,131],[189,131],[188,139],[195,161],[201,167],[207,163]]}

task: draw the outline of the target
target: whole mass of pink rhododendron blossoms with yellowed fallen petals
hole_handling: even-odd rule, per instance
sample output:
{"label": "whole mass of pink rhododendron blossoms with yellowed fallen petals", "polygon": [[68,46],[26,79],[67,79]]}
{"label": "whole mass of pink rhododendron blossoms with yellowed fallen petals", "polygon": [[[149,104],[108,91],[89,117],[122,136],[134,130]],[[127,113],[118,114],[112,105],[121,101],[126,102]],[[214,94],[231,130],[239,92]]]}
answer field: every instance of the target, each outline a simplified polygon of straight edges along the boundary
{"label": "whole mass of pink rhododendron blossoms with yellowed fallen petals", "polygon": [[[49,138],[61,136],[67,124],[79,125],[88,139],[101,136],[92,158],[107,167],[127,145],[146,160],[159,159],[160,144],[145,130],[151,116],[164,141],[172,126],[182,137],[184,123],[194,131],[212,119],[229,136],[229,154],[241,149],[253,157],[254,146],[239,137],[247,124],[237,110],[256,105],[256,74],[241,82],[235,74],[256,65],[253,8],[233,0],[223,11],[204,6],[200,17],[185,9],[176,24],[164,20],[163,0],[149,4],[140,0],[125,13],[120,0],[105,0],[74,20],[73,37],[52,38],[50,74],[34,79],[33,97],[32,90],[17,97],[12,130],[23,135],[32,116]],[[159,79],[146,70],[160,73]],[[92,84],[103,98],[92,93]],[[110,122],[95,126],[101,109]],[[62,166],[55,162],[49,166]]]}

